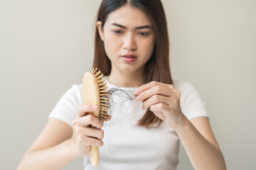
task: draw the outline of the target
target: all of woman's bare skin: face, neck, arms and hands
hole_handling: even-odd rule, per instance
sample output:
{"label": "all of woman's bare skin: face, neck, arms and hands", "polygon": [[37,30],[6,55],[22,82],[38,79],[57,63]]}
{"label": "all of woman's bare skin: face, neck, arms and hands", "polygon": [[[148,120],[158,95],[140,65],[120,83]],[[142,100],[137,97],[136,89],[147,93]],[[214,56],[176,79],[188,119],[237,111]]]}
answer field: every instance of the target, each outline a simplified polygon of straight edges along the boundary
{"label": "all of woman's bare skin: face, neck, arms and hands", "polygon": [[[141,26],[149,28],[138,29]],[[142,101],[144,109],[149,108],[176,130],[194,169],[226,169],[208,118],[186,119],[180,107],[181,93],[173,85],[156,81],[144,84],[143,67],[154,49],[154,30],[150,27],[146,15],[128,5],[110,13],[103,28],[102,23],[97,22],[100,38],[112,62],[112,72],[107,79],[117,86],[139,87],[134,91],[136,101]],[[126,63],[120,57],[125,54],[134,54],[137,60]],[[96,109],[90,105],[79,106],[72,128],[61,120],[50,118],[24,154],[18,169],[61,169],[73,159],[88,154],[91,145],[102,147],[104,132],[100,128],[103,122],[88,114]],[[109,115],[107,121],[110,119]]]}

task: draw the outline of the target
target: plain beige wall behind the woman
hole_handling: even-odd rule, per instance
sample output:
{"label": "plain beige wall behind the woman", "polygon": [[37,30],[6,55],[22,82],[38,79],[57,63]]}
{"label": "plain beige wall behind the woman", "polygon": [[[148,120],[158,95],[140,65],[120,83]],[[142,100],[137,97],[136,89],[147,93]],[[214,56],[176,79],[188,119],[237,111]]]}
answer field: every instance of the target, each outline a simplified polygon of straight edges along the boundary
{"label": "plain beige wall behind the woman", "polygon": [[[174,79],[206,101],[228,169],[255,169],[256,1],[163,3]],[[99,5],[0,0],[0,169],[16,169],[59,98],[91,68]],[[178,169],[193,169],[182,147],[179,157]],[[64,169],[82,169],[82,159]]]}

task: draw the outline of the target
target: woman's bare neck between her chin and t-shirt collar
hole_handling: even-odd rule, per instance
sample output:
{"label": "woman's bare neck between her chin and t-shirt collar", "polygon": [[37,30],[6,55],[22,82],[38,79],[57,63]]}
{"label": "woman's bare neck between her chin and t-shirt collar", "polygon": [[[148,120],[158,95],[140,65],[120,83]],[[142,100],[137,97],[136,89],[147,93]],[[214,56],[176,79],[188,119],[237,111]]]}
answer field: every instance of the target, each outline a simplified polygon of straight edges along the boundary
{"label": "woman's bare neck between her chin and t-shirt collar", "polygon": [[122,72],[122,70],[111,70],[107,80],[115,86],[139,87],[144,84],[143,69],[136,72]]}

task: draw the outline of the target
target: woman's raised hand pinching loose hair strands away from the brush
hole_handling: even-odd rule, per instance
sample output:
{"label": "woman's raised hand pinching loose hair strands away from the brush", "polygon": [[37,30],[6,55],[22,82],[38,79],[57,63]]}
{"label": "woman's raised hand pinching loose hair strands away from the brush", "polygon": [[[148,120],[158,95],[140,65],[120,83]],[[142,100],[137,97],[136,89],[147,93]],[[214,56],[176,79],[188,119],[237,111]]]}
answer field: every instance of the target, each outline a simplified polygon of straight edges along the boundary
{"label": "woman's raised hand pinching loose hair strands away from the brush", "polygon": [[180,106],[181,92],[172,84],[151,81],[134,91],[136,101],[143,102],[143,109],[149,108],[157,117],[164,120],[170,128],[181,125],[185,115]]}

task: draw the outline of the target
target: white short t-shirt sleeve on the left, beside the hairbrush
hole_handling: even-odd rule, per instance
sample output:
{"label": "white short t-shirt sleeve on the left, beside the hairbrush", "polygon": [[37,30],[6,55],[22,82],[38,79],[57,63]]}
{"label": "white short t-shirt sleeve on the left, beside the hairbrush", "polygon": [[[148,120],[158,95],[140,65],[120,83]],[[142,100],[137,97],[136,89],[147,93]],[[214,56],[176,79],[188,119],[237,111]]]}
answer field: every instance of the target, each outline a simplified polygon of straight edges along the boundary
{"label": "white short t-shirt sleeve on the left, beside the hairbrush", "polygon": [[78,106],[82,104],[82,89],[80,85],[73,84],[68,91],[63,94],[48,118],[57,118],[72,127],[72,121],[78,114]]}

